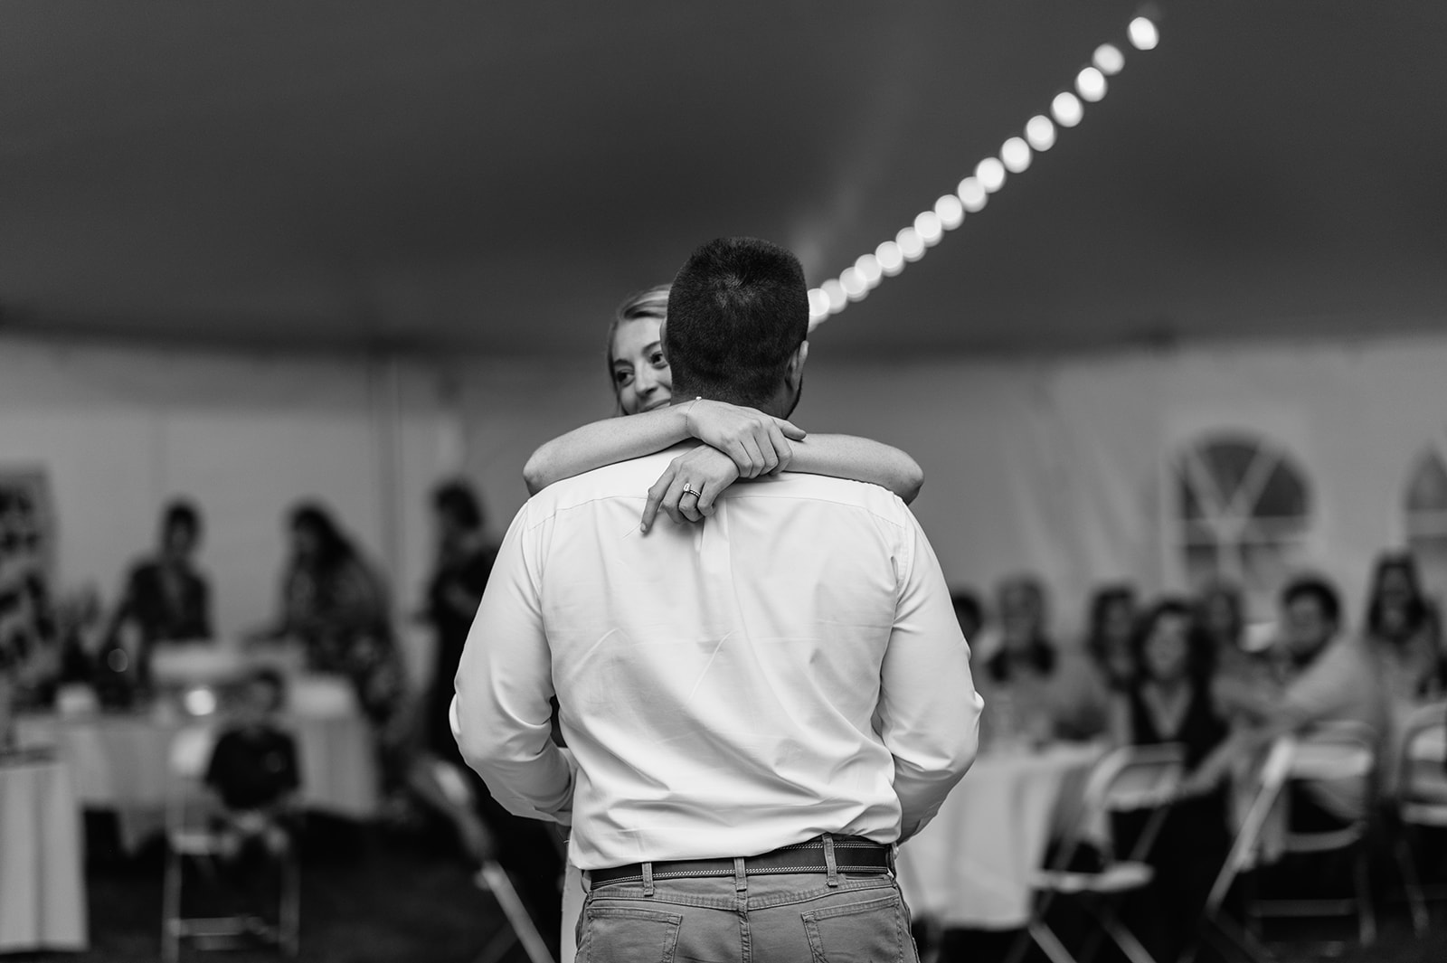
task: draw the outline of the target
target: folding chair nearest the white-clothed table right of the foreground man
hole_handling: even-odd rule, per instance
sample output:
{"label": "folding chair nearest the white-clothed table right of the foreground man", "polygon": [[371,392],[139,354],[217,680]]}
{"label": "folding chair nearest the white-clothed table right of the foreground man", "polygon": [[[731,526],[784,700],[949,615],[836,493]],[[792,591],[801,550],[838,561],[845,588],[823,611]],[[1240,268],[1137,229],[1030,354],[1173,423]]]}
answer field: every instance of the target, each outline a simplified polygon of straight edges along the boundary
{"label": "folding chair nearest the white-clothed table right of the foreground man", "polygon": [[[1032,879],[1039,894],[1024,933],[1011,947],[1010,963],[1019,963],[1029,950],[1030,941],[1039,946],[1052,963],[1077,963],[1061,938],[1045,923],[1045,914],[1056,898],[1074,898],[1100,924],[1132,963],[1155,963],[1155,959],[1140,944],[1140,940],[1121,924],[1116,904],[1121,896],[1150,885],[1155,870],[1145,857],[1149,855],[1169,804],[1175,798],[1185,772],[1185,750],[1178,745],[1123,746],[1110,752],[1095,763],[1085,782],[1081,810],[1068,831],[1058,856],[1049,869]],[[1126,859],[1117,859],[1106,846],[1106,863],[1098,872],[1069,869],[1071,860],[1081,846],[1092,836],[1100,836],[1108,826],[1113,813],[1150,810],[1152,817],[1145,831],[1136,840]],[[1094,956],[1097,943],[1092,940],[1082,956],[1085,962]]]}

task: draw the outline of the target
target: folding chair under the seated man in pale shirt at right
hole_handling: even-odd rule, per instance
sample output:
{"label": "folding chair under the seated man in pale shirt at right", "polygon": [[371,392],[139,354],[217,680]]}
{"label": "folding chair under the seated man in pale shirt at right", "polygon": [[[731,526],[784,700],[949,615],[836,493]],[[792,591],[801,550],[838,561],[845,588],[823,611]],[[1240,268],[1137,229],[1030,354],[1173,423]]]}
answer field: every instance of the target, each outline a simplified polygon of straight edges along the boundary
{"label": "folding chair under the seated man in pale shirt at right", "polygon": [[1362,723],[1324,723],[1302,733],[1291,753],[1286,785],[1294,781],[1362,781],[1366,800],[1362,816],[1340,829],[1301,831],[1288,827],[1283,855],[1315,855],[1353,850],[1353,895],[1341,899],[1262,899],[1247,901],[1247,921],[1256,924],[1276,917],[1356,915],[1362,946],[1376,941],[1376,911],[1367,873],[1366,836],[1375,807],[1376,732]]}

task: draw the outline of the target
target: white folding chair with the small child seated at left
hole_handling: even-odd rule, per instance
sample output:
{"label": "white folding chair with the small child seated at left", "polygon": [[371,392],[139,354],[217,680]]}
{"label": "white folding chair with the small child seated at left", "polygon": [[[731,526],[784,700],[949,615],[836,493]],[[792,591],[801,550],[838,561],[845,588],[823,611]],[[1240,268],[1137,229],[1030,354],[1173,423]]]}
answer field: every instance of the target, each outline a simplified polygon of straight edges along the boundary
{"label": "white folding chair with the small child seated at left", "polygon": [[256,915],[184,917],[181,895],[187,863],[216,876],[216,860],[224,837],[211,826],[216,800],[204,784],[216,733],[207,726],[181,730],[171,742],[166,775],[166,870],[162,889],[161,956],[175,963],[184,937],[239,937],[250,934],[276,943],[287,956],[297,956],[301,930],[301,870],[295,850],[281,860],[278,924]]}

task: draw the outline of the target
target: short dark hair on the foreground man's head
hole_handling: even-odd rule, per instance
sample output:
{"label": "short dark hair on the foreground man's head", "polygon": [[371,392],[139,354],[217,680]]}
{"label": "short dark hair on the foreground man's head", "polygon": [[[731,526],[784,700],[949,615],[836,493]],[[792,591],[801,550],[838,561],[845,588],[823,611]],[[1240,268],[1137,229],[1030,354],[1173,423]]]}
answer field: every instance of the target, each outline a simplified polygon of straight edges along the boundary
{"label": "short dark hair on the foreground man's head", "polygon": [[758,408],[809,335],[809,288],[790,252],[755,237],[703,244],[669,291],[664,353],[676,398]]}

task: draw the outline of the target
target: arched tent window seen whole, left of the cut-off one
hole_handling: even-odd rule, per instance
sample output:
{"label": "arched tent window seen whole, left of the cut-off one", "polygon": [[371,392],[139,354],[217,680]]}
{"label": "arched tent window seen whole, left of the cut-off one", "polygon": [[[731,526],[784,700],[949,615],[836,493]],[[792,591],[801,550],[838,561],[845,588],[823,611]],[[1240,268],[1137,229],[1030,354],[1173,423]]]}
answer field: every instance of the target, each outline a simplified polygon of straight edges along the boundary
{"label": "arched tent window seen whole, left of the cut-off one", "polygon": [[1305,474],[1279,445],[1244,431],[1202,437],[1179,454],[1172,482],[1192,587],[1220,578],[1260,600],[1291,574],[1311,497]]}

